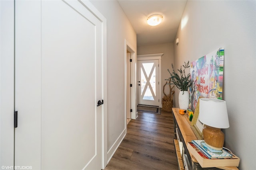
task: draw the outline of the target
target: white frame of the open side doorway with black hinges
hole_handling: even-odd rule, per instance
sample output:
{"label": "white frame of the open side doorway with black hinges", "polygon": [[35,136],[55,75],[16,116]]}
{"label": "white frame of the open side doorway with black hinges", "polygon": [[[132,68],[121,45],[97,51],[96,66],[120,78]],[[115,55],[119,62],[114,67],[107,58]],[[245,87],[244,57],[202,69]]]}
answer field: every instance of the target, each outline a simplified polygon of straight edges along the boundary
{"label": "white frame of the open side doorway with black hinges", "polygon": [[[127,101],[127,51],[129,51],[131,53],[131,67],[130,67],[130,77],[131,77],[131,84],[132,84],[132,88],[131,88],[131,119],[136,119],[138,117],[138,112],[137,112],[137,105],[136,105],[136,64],[137,64],[137,57],[136,57],[136,49],[134,47],[132,47],[132,45],[125,39],[124,40],[124,102],[126,103]],[[125,129],[126,129],[126,133],[127,133],[127,125],[126,125],[126,105],[124,106],[124,114],[125,114]]]}

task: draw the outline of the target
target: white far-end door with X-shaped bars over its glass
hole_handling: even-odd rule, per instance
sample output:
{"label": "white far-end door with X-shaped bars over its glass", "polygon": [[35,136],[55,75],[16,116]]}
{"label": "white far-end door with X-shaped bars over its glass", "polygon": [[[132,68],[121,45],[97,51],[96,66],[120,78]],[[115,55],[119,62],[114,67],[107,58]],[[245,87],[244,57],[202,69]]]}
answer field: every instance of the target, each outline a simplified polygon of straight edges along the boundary
{"label": "white far-end door with X-shaped bars over its glass", "polygon": [[138,61],[138,104],[159,106],[158,60]]}

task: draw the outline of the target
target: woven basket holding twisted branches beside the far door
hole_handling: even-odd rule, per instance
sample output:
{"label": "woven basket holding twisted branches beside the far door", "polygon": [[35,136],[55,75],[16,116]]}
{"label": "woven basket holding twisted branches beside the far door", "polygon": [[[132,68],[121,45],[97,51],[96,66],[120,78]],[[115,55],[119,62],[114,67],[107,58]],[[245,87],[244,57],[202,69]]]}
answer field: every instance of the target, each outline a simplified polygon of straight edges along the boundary
{"label": "woven basket holding twisted branches beside the far door", "polygon": [[[166,86],[166,84],[167,82],[164,84],[164,87]],[[162,106],[163,106],[162,110],[166,112],[171,112],[173,107],[174,91],[172,89],[174,88],[174,86],[171,87],[170,82],[169,82],[169,88],[170,88],[170,93],[168,95],[164,93],[164,97],[162,98]],[[164,92],[164,88],[163,88],[163,92]]]}

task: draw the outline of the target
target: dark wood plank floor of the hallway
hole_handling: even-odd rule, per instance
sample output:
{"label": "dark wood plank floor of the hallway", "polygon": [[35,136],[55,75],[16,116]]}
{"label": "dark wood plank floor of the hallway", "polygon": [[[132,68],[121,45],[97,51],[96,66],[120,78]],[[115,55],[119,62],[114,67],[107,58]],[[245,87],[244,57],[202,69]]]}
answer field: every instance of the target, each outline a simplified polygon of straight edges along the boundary
{"label": "dark wood plank floor of the hallway", "polygon": [[178,170],[173,116],[138,113],[105,170]]}

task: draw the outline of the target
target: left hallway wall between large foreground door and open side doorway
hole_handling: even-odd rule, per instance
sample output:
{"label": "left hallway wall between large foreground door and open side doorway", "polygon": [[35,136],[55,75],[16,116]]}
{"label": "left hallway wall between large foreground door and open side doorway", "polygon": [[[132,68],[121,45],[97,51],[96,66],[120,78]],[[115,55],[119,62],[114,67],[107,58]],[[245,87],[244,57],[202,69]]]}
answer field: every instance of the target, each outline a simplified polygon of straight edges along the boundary
{"label": "left hallway wall between large foreground door and open side doorway", "polygon": [[90,1],[107,20],[108,158],[125,134],[125,39],[136,49],[136,32],[117,1]]}

